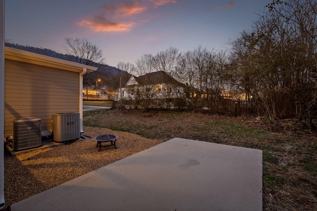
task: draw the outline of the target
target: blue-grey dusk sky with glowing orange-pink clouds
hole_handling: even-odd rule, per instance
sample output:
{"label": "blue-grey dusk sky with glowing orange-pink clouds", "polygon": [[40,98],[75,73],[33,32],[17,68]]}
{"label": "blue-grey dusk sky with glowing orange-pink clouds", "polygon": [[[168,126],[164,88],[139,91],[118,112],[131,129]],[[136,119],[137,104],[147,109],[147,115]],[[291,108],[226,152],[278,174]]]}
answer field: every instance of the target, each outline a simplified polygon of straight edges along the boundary
{"label": "blue-grey dusk sky with glowing orange-pink clouds", "polygon": [[106,64],[135,64],[172,46],[226,50],[271,0],[5,0],[5,39],[65,53],[64,38],[87,38]]}

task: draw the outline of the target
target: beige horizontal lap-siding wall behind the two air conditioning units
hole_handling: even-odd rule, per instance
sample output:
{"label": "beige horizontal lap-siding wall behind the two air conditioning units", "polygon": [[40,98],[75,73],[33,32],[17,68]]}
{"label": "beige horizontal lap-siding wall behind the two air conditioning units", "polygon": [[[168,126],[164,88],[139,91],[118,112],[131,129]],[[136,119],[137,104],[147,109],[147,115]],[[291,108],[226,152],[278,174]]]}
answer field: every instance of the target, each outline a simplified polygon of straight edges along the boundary
{"label": "beige horizontal lap-siding wall behind the two air conditioning units", "polygon": [[5,59],[4,134],[12,121],[38,117],[52,129],[53,113],[79,113],[79,73]]}

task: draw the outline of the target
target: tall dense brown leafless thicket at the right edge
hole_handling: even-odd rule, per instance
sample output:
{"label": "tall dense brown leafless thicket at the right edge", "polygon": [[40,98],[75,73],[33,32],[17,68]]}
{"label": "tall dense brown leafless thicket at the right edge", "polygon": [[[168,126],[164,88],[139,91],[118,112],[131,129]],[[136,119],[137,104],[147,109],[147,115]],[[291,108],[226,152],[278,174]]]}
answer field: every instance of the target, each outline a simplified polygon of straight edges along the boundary
{"label": "tall dense brown leafless thicket at the right edge", "polygon": [[316,107],[316,6],[316,0],[272,0],[232,42],[232,82],[260,99],[272,119],[302,118]]}

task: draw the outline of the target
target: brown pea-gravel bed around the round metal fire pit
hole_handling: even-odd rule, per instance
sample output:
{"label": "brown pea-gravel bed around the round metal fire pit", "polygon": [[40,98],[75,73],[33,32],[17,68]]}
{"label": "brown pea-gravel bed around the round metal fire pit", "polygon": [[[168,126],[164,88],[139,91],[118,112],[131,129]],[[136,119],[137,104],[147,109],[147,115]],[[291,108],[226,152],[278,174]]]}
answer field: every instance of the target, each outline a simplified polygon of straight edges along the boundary
{"label": "brown pea-gravel bed around the round metal fire pit", "polygon": [[[4,155],[4,199],[6,206],[53,188],[85,173],[153,147],[162,141],[107,128],[83,127],[92,137],[83,141],[38,149],[10,157]],[[94,137],[119,136],[114,146],[98,151]]]}

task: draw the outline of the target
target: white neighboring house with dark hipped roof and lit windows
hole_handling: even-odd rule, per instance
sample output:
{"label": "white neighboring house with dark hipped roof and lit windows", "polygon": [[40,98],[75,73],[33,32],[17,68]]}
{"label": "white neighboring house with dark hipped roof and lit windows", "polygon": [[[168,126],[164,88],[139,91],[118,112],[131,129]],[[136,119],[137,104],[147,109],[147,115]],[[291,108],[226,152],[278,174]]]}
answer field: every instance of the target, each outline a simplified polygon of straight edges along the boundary
{"label": "white neighboring house with dark hipped roof and lit windows", "polygon": [[144,76],[131,76],[126,85],[118,89],[118,100],[171,99],[185,97],[185,84],[177,82],[163,71],[147,73]]}

